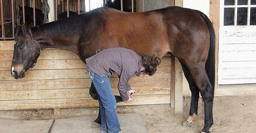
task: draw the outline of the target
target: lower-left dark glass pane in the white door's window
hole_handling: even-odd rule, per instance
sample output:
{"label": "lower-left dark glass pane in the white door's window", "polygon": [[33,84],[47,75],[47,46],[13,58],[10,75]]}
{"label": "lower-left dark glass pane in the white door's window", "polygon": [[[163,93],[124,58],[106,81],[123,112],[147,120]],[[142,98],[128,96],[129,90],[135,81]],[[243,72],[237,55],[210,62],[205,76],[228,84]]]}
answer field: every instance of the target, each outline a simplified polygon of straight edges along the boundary
{"label": "lower-left dark glass pane in the white door's window", "polygon": [[224,25],[234,25],[235,8],[224,8]]}

